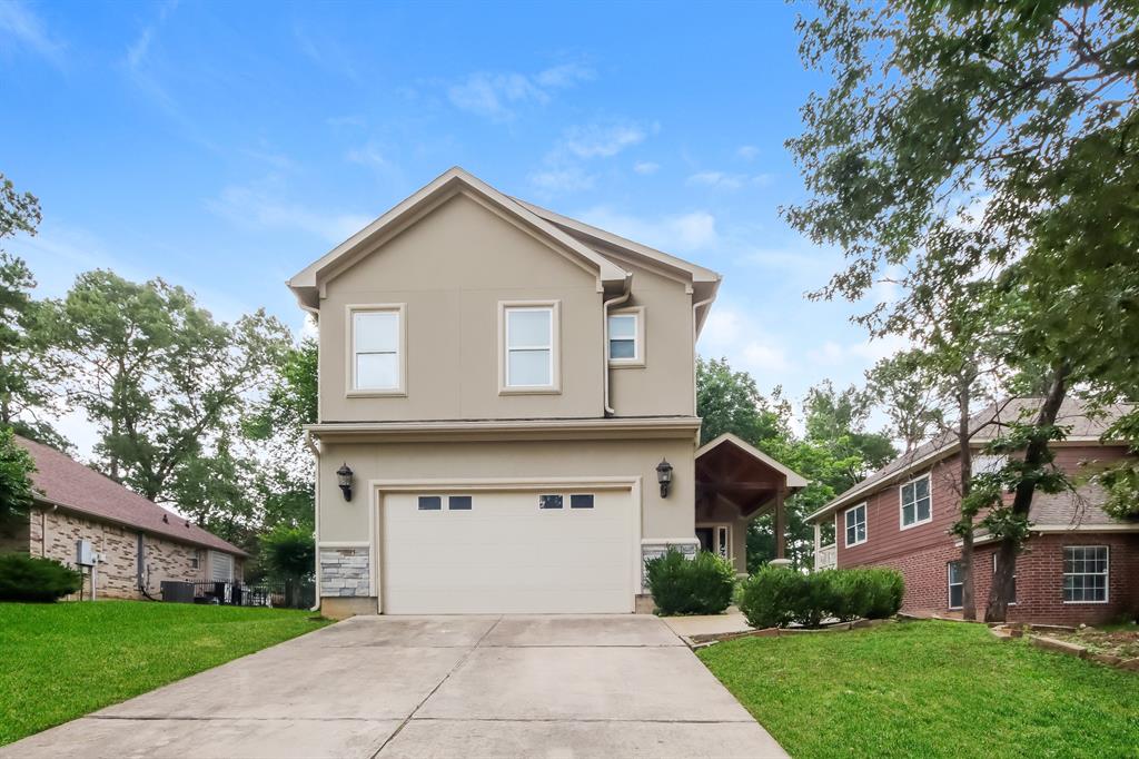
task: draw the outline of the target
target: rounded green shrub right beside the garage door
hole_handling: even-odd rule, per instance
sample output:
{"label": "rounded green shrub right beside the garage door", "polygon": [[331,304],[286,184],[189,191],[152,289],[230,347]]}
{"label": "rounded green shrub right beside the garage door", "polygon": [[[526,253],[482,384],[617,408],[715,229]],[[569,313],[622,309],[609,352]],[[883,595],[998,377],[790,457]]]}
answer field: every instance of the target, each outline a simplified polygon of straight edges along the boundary
{"label": "rounded green shrub right beside the garage door", "polygon": [[736,571],[731,562],[700,552],[687,558],[675,548],[645,562],[653,603],[662,617],[720,614],[731,605]]}

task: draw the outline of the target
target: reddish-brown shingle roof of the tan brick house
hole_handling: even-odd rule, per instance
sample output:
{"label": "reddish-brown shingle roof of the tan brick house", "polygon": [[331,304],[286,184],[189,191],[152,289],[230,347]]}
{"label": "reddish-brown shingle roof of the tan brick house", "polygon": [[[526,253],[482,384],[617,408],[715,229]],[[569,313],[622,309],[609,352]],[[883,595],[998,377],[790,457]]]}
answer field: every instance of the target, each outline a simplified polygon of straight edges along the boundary
{"label": "reddish-brown shingle roof of the tan brick house", "polygon": [[55,448],[16,435],[16,442],[35,459],[32,483],[39,492],[35,500],[90,516],[96,521],[114,522],[163,538],[224,550],[237,556],[247,554],[194,524],[185,516],[167,511],[142,496],[128,490],[110,478],[83,466]]}

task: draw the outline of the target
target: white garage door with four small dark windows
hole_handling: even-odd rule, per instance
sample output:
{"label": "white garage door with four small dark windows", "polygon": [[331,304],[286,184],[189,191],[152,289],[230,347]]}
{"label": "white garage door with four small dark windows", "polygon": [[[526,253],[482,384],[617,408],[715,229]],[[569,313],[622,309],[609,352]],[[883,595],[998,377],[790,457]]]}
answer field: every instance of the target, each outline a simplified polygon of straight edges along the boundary
{"label": "white garage door with four small dark windows", "polygon": [[629,490],[444,490],[380,503],[384,613],[632,611]]}

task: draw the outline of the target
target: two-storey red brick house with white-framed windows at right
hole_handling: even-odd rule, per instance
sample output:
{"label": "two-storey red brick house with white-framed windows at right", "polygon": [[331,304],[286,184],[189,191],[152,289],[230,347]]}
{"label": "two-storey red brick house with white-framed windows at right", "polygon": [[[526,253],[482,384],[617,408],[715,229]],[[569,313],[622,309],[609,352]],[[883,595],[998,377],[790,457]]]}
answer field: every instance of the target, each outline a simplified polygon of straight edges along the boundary
{"label": "two-storey red brick house with white-framed windows at right", "polygon": [[[982,452],[1001,424],[1016,421],[1035,401],[1016,400],[977,415],[973,424],[974,471],[1000,466]],[[1054,443],[1056,465],[1077,484],[1075,492],[1036,492],[1031,537],[1016,562],[1016,604],[1010,621],[1099,623],[1139,612],[1139,522],[1113,520],[1100,508],[1104,492],[1088,478],[1129,456],[1121,443],[1100,439],[1114,416],[1089,418],[1068,400],[1057,424],[1068,427]],[[953,614],[961,607],[960,539],[949,531],[960,506],[957,438],[943,434],[899,457],[808,516],[816,527],[816,568],[893,566],[906,577],[902,610]],[[1008,496],[1011,498],[1011,496]],[[819,545],[821,525],[834,522],[835,542]],[[976,538],[974,591],[984,613],[997,544]]]}

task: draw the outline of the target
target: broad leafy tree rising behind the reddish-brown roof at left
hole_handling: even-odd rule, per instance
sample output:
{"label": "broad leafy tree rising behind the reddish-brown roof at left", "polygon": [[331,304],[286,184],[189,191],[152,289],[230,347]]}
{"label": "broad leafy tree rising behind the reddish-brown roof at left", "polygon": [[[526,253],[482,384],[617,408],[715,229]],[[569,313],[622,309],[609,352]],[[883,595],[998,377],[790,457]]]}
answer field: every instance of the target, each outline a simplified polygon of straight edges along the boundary
{"label": "broad leafy tree rising behind the reddish-brown roof at left", "polygon": [[99,430],[99,466],[147,498],[192,507],[180,500],[187,478],[215,472],[202,457],[268,385],[287,329],[264,311],[215,321],[181,287],[103,270],[47,308],[51,359],[68,402]]}

